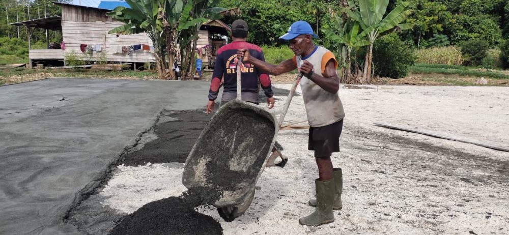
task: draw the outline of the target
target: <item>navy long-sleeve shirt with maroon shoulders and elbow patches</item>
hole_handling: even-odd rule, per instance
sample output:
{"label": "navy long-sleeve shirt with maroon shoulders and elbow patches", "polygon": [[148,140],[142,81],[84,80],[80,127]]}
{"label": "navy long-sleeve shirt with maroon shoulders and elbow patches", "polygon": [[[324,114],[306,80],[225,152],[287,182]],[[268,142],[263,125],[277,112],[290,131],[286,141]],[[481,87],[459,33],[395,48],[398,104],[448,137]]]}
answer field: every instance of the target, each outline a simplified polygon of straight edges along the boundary
{"label": "navy long-sleeve shirt with maroon shoulders and elbow patches", "polygon": [[[235,41],[219,48],[219,50],[217,50],[212,81],[210,82],[209,100],[215,100],[217,98],[221,78],[224,78],[223,96],[224,93],[237,92],[237,64],[235,63],[235,58],[237,57],[237,49],[241,48],[248,49],[250,56],[265,61],[262,48],[245,41]],[[244,63],[241,75],[242,93],[250,92],[258,94],[259,80],[265,95],[267,97],[272,97],[274,92],[272,91],[269,75],[254,67],[254,65]]]}

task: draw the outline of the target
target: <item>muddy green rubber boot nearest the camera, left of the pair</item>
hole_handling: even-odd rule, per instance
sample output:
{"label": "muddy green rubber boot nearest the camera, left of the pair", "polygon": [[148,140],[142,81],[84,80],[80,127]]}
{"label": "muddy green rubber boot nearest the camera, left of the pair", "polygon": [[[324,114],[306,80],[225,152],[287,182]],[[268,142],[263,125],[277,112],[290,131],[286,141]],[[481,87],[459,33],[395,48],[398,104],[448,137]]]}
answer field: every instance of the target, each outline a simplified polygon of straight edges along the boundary
{"label": "muddy green rubber boot nearest the camera, left of the pair", "polygon": [[332,203],[334,202],[334,179],[315,181],[317,208],[311,215],[299,219],[301,225],[316,226],[334,221]]}

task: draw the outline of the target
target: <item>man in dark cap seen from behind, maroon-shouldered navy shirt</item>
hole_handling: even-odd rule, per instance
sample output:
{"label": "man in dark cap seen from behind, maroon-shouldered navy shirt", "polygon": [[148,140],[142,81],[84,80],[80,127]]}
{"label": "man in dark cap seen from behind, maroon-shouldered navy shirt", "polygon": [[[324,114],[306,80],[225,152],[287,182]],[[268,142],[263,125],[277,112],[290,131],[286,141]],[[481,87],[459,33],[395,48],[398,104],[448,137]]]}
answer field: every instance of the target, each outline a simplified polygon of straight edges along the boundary
{"label": "man in dark cap seen from behind, maroon-shouldered navy shirt", "polygon": [[[265,61],[262,48],[257,45],[246,42],[247,23],[238,19],[232,23],[232,43],[222,46],[217,50],[216,63],[210,82],[209,102],[207,103],[207,114],[214,110],[215,100],[219,93],[221,78],[224,78],[224,90],[221,97],[221,105],[234,100],[237,96],[237,50],[245,48],[252,57],[259,61]],[[274,107],[274,92],[272,84],[267,73],[255,68],[249,63],[243,63],[241,83],[242,100],[258,104],[258,81],[267,96],[267,105],[269,109]]]}

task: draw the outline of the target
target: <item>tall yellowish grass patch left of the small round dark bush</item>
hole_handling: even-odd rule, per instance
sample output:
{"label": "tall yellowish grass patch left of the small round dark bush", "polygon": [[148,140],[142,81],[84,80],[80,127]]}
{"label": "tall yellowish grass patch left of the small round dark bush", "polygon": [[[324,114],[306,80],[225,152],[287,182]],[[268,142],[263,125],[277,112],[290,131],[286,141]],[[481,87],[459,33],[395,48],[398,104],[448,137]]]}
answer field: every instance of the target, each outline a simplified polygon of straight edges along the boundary
{"label": "tall yellowish grass patch left of the small round dark bush", "polygon": [[422,64],[462,65],[463,63],[460,48],[456,46],[419,49],[414,54],[417,57],[415,62]]}

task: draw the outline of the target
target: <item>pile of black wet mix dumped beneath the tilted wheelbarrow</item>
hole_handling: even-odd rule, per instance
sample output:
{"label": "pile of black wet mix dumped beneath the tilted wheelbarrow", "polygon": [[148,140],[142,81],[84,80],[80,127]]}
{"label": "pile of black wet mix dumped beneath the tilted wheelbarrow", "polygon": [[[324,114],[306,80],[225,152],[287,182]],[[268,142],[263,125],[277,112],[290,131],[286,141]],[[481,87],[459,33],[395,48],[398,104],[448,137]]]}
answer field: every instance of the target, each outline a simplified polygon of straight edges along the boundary
{"label": "pile of black wet mix dumped beneath the tilted wheelbarrow", "polygon": [[219,195],[211,189],[196,188],[180,197],[150,202],[124,216],[111,234],[222,234],[219,222],[193,209],[210,204]]}

